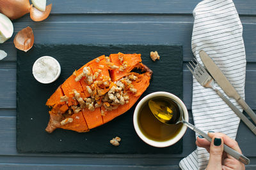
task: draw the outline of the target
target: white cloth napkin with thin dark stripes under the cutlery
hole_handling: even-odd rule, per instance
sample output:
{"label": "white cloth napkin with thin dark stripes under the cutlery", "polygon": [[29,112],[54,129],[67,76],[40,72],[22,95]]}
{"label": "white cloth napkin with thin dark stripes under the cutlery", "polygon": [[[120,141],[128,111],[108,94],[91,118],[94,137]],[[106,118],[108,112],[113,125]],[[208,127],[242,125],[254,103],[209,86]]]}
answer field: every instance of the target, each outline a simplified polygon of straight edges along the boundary
{"label": "white cloth napkin with thin dark stripes under the cutlery", "polygon": [[[220,67],[239,94],[244,97],[246,59],[243,26],[232,0],[205,0],[193,11],[195,17],[191,48],[202,64],[204,50]],[[216,87],[223,92],[218,85]],[[223,92],[223,94],[225,94]],[[227,97],[227,96],[226,96]],[[242,111],[234,99],[230,101]],[[212,89],[205,89],[193,78],[192,113],[196,127],[204,132],[223,132],[235,139],[240,118]],[[198,134],[196,134],[197,136]],[[181,169],[205,169],[209,153],[197,147],[180,161]]]}

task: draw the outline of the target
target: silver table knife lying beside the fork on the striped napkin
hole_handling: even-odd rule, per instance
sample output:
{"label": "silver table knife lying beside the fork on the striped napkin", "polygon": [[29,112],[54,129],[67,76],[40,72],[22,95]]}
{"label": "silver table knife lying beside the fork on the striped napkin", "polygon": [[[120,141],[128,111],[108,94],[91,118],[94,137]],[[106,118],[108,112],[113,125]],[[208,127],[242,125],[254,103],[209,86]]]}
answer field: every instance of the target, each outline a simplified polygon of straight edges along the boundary
{"label": "silver table knife lying beside the fork on the striped napkin", "polygon": [[228,97],[233,97],[236,99],[237,103],[239,103],[244,111],[252,118],[253,122],[256,124],[256,115],[252,111],[252,109],[245,103],[244,99],[238,94],[236,89],[232,86],[230,81],[227,80],[226,76],[222,73],[219,67],[215,64],[215,62],[205,53],[204,50],[199,52],[200,58],[204,63],[204,66],[207,68],[212,78],[220,85],[221,89],[227,94]]}

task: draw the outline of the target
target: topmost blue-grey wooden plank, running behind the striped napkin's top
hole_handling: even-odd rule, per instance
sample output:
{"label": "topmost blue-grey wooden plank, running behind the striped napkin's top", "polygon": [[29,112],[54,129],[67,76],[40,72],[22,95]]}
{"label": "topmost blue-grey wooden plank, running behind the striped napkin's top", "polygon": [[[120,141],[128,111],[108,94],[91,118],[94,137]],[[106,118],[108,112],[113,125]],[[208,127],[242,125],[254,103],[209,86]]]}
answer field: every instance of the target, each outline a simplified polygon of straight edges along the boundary
{"label": "topmost blue-grey wooden plank, running behind the striped napkin's top", "polygon": [[[192,13],[200,0],[130,0],[130,1],[61,1],[50,0],[54,14],[62,13]],[[241,15],[255,15],[256,3],[253,0],[234,0],[237,11]]]}

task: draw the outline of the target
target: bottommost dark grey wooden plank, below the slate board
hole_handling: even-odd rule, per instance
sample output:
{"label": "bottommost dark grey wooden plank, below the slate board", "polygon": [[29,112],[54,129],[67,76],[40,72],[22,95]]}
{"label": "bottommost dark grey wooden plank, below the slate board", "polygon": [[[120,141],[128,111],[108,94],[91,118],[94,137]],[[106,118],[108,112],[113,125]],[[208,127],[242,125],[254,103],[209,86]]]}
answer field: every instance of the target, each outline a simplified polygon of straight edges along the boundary
{"label": "bottommost dark grey wooden plank, below the slate board", "polygon": [[[85,158],[85,157],[49,157],[49,156],[1,156],[1,164],[48,164],[57,165],[65,164],[73,166],[83,165],[83,166],[132,166],[132,167],[156,167],[156,166],[178,166],[180,158],[172,157],[141,157],[140,159],[136,157],[122,158]],[[1,166],[0,166],[1,167]]]}

